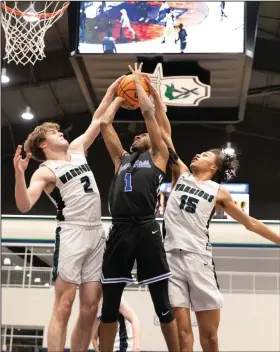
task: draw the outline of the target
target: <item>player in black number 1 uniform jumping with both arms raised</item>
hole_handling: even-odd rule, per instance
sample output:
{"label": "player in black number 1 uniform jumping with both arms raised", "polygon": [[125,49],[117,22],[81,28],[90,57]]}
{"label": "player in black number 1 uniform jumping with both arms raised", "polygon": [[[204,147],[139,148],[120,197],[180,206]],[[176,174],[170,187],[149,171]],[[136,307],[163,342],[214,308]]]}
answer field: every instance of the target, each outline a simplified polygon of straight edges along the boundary
{"label": "player in black number 1 uniform jumping with both arms raised", "polygon": [[148,133],[134,138],[132,154],[128,154],[112,126],[122,99],[115,99],[101,119],[101,132],[115,166],[109,194],[112,227],[101,275],[101,351],[113,350],[120,300],[125,285],[133,282],[131,270],[135,260],[138,282],[149,285],[168,349],[178,351],[177,327],[168,299],[170,271],[160,227],[155,220],[157,192],[165,176],[168,150],[153,105],[140,83],[141,66],[138,69],[136,65],[132,72]]}

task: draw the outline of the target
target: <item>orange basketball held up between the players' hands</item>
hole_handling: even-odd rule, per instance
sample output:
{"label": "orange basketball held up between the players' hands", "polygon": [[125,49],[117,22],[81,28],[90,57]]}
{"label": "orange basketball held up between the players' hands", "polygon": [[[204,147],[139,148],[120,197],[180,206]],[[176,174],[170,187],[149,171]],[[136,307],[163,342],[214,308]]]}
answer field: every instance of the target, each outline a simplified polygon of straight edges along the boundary
{"label": "orange basketball held up between the players' hands", "polygon": [[[147,82],[144,78],[141,78],[141,85],[145,89],[147,95],[150,95],[150,90]],[[118,87],[117,94],[119,97],[124,98],[130,105],[139,106],[139,100],[136,92],[135,83],[133,81],[132,75],[124,77]],[[126,104],[125,108],[129,105]]]}

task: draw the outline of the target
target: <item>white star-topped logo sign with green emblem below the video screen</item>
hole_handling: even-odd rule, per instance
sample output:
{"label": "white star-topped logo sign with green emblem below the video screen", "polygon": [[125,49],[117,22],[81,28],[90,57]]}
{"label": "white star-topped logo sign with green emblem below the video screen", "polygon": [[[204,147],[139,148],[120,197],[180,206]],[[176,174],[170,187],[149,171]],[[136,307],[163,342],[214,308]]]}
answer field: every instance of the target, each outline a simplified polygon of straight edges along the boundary
{"label": "white star-topped logo sign with green emblem below the video screen", "polygon": [[147,73],[167,106],[198,106],[211,96],[211,87],[201,83],[197,76],[163,76],[162,64],[153,73]]}

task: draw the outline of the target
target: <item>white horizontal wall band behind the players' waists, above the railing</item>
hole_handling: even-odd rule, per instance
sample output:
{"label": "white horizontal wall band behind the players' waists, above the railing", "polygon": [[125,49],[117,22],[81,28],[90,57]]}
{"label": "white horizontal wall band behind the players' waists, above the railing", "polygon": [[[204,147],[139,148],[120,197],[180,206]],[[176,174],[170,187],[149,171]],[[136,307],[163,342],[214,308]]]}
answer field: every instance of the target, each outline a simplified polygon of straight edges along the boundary
{"label": "white horizontal wall band behind the players' waists, above the railing", "polygon": [[[111,225],[109,218],[103,218],[103,226],[106,233]],[[280,222],[270,221],[266,223],[276,233],[280,233]],[[54,218],[37,218],[28,216],[2,216],[3,239],[32,239],[54,240],[56,221]],[[236,222],[214,220],[210,226],[210,239],[212,243],[271,243],[264,238],[247,231]]]}

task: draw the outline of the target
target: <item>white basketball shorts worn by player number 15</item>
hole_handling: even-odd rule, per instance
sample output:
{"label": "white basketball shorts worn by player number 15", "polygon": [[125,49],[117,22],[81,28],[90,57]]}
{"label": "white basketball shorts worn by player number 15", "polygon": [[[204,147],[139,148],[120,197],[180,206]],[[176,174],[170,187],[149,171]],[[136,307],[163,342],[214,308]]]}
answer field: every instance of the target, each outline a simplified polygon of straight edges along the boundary
{"label": "white basketball shorts worn by player number 15", "polygon": [[172,307],[184,307],[195,312],[222,307],[223,296],[212,257],[180,249],[168,251],[169,299]]}

